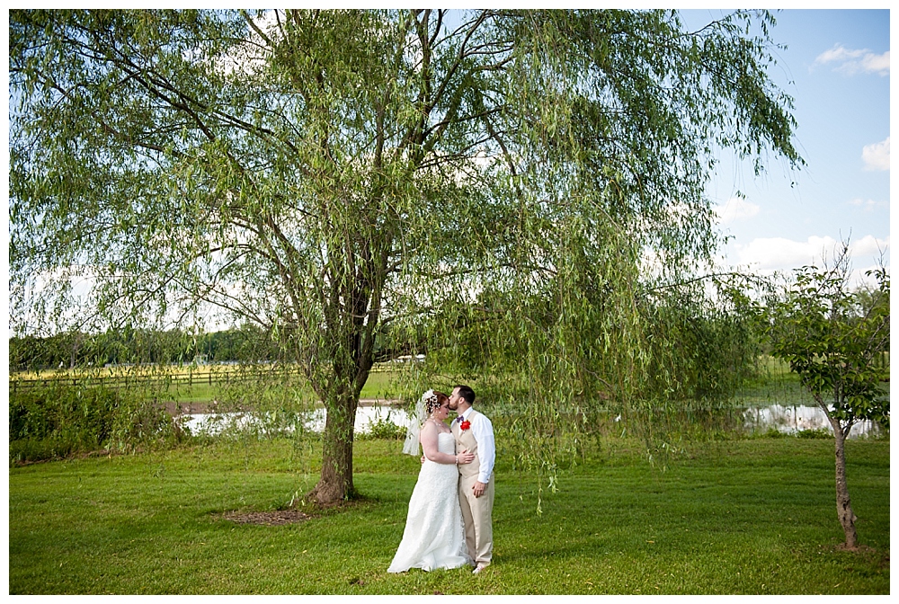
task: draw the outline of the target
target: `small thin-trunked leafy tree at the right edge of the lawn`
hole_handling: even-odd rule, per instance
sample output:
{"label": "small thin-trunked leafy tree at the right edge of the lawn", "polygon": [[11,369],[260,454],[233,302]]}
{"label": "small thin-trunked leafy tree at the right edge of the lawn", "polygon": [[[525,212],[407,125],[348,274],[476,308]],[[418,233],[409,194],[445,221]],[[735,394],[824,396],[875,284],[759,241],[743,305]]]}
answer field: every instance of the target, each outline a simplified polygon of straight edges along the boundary
{"label": "small thin-trunked leafy tree at the right edge of the lawn", "polygon": [[798,269],[792,286],[769,305],[771,354],[789,363],[827,415],[835,440],[837,516],[845,546],[858,544],[846,483],[845,441],[858,422],[888,427],[890,402],[883,384],[889,352],[890,278],[868,271],[876,289],[851,290],[848,246],[831,268]]}

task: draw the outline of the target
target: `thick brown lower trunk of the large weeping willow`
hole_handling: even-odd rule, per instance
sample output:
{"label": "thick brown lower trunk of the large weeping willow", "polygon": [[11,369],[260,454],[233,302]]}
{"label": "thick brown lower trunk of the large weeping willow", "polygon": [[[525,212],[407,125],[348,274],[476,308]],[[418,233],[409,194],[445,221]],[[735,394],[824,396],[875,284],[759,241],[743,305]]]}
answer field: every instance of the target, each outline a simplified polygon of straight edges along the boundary
{"label": "thick brown lower trunk of the large weeping willow", "polygon": [[322,473],[307,497],[320,505],[337,505],[355,494],[352,484],[352,443],[359,398],[337,395],[325,405]]}

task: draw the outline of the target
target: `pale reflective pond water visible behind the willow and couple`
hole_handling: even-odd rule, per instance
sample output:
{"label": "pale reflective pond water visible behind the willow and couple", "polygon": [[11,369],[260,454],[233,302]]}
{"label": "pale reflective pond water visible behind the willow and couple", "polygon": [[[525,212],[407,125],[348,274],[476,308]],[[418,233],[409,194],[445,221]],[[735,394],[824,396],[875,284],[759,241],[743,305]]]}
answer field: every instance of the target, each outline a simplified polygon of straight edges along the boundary
{"label": "pale reflective pond water visible behind the willow and couple", "polygon": [[[306,429],[322,431],[325,429],[325,410],[317,409],[307,418]],[[265,431],[271,422],[260,420],[250,413],[192,413],[182,415],[182,425],[189,428],[191,434],[219,432],[235,428],[256,428]],[[357,433],[369,431],[373,422],[388,421],[398,426],[409,422],[409,415],[404,409],[387,404],[361,406],[356,410],[355,429]],[[806,430],[831,430],[824,412],[815,406],[773,404],[765,407],[751,407],[743,410],[743,428],[747,431],[768,431],[775,429],[784,433],[795,433]],[[882,429],[876,422],[859,422],[852,427],[850,438],[873,436]]]}

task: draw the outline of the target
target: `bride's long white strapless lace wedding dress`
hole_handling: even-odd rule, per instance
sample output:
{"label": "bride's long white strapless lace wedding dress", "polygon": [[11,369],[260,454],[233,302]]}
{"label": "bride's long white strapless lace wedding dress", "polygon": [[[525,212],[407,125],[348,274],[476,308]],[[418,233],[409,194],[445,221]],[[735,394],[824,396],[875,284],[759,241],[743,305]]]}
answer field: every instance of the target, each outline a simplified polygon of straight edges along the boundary
{"label": "bride's long white strapless lace wedding dress", "polygon": [[[456,440],[449,432],[437,435],[437,449],[454,455]],[[409,500],[403,540],[387,573],[410,568],[431,571],[471,564],[465,548],[462,510],[458,506],[458,469],[426,459]]]}

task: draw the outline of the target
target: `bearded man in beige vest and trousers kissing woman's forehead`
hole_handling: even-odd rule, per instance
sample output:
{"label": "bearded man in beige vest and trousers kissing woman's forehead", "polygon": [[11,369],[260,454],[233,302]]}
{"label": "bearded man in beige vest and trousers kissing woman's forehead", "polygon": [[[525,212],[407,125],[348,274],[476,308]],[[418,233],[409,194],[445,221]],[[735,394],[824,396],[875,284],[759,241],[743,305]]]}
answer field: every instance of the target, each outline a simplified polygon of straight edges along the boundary
{"label": "bearded man in beige vest and trousers kissing woman's forehead", "polygon": [[465,521],[465,545],[475,561],[477,574],[490,564],[494,550],[494,426],[472,404],[475,391],[456,386],[449,396],[449,409],[458,413],[450,429],[456,438],[456,450],[475,454],[470,464],[458,466],[458,502]]}

